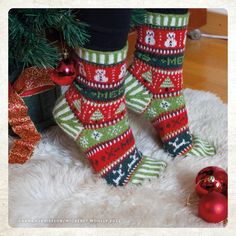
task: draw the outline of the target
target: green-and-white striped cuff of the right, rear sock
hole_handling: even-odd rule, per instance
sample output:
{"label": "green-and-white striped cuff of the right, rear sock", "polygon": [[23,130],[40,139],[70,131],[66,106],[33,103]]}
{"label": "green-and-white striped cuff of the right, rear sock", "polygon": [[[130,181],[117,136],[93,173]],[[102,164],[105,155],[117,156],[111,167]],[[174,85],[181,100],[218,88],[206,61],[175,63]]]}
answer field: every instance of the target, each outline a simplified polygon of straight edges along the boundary
{"label": "green-and-white striped cuff of the right, rear sock", "polygon": [[187,14],[161,14],[155,12],[147,12],[145,23],[148,25],[164,26],[164,27],[184,27],[187,26],[189,13]]}

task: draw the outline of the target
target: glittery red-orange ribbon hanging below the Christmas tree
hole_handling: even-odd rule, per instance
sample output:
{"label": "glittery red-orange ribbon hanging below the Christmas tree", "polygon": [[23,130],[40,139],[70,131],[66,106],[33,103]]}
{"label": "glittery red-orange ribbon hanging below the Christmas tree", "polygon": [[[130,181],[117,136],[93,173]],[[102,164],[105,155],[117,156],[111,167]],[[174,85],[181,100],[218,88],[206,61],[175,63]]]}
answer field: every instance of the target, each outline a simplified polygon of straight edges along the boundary
{"label": "glittery red-orange ribbon hanging below the Christmas tree", "polygon": [[52,70],[30,67],[25,69],[17,81],[9,84],[8,122],[19,136],[13,141],[9,152],[9,163],[25,163],[32,155],[41,139],[22,97],[36,95],[52,89],[55,84],[50,79]]}

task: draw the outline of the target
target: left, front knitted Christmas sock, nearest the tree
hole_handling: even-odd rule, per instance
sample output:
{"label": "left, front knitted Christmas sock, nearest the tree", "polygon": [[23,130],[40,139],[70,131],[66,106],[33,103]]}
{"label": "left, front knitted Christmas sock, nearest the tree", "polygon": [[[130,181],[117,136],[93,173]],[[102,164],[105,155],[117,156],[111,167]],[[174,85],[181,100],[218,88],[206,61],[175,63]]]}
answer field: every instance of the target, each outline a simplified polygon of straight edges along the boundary
{"label": "left, front knitted Christmas sock, nearest the tree", "polygon": [[113,52],[78,49],[78,77],[53,112],[95,172],[115,186],[142,183],[166,166],[135,146],[124,96],[126,52],[127,47]]}

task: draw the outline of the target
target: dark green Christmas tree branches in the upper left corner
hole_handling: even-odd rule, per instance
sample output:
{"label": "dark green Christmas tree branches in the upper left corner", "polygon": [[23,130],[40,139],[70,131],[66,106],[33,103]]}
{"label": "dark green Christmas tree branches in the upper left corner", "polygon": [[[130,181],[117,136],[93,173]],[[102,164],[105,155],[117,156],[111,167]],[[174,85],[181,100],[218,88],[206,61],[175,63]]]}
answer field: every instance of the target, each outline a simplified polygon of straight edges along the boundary
{"label": "dark green Christmas tree branches in the upper left corner", "polygon": [[[11,9],[9,11],[9,64],[53,68],[61,44],[75,48],[88,40],[87,25],[71,9]],[[54,38],[51,40],[50,35]],[[55,37],[57,35],[57,37]]]}

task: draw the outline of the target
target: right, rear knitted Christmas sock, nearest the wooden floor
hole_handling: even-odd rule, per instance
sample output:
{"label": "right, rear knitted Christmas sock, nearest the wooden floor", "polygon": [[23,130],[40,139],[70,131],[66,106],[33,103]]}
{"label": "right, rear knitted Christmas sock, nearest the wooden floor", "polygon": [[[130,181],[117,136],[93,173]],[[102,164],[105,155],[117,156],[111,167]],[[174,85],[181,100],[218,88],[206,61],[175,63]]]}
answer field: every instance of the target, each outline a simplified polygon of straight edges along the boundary
{"label": "right, rear knitted Christmas sock, nearest the wooden floor", "polygon": [[182,93],[187,23],[188,14],[146,13],[125,79],[127,106],[144,114],[172,156],[190,150],[194,155],[213,155],[214,148],[199,138],[192,149]]}

